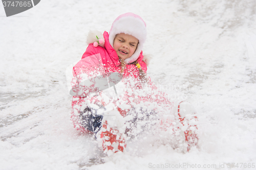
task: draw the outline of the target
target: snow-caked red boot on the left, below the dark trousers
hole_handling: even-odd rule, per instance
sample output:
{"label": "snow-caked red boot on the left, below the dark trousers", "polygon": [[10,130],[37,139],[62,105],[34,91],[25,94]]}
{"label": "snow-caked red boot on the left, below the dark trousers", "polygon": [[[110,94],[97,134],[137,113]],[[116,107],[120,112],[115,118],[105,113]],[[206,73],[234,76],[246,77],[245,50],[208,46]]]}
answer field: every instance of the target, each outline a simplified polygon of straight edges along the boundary
{"label": "snow-caked red boot on the left, below the dark trousers", "polygon": [[126,148],[125,135],[120,133],[117,128],[110,128],[105,120],[100,132],[104,153],[111,156],[113,153],[124,151]]}

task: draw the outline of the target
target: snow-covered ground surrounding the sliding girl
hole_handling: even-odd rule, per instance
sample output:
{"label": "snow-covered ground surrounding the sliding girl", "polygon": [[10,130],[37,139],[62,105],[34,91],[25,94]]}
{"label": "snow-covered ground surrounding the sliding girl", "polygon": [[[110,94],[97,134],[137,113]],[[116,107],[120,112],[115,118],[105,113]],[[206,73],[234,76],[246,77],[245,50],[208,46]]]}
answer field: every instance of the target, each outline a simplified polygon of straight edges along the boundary
{"label": "snow-covered ground surrounding the sliding girl", "polygon": [[[125,12],[147,23],[147,75],[198,110],[189,153],[128,143],[105,157],[73,128],[66,68],[90,29],[109,31]],[[255,0],[44,0],[11,17],[0,7],[0,169],[255,169],[255,19]]]}

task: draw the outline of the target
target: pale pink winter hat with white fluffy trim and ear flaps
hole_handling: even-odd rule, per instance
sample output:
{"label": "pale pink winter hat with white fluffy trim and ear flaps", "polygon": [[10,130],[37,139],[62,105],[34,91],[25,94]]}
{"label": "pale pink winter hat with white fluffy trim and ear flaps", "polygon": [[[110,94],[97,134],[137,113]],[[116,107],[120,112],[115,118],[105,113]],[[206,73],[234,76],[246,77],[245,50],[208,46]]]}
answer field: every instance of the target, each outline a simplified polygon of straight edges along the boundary
{"label": "pale pink winter hat with white fluffy trim and ear flaps", "polygon": [[139,15],[134,13],[129,12],[122,14],[114,20],[110,29],[109,41],[112,47],[114,46],[116,35],[120,33],[132,35],[139,40],[135,53],[130,58],[124,60],[126,64],[132,63],[139,58],[146,40],[146,23]]}

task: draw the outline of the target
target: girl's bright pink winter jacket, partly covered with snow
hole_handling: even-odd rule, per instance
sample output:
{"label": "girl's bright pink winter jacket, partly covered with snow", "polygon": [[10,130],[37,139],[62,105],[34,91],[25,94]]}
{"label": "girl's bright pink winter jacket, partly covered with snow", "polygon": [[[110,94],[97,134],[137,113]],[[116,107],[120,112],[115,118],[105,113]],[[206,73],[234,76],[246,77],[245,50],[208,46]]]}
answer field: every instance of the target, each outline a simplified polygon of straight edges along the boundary
{"label": "girl's bright pink winter jacket, partly covered with snow", "polygon": [[[94,71],[94,67],[99,68],[97,70],[97,74],[106,74],[108,72],[120,72],[121,71],[121,63],[115,52],[114,48],[109,43],[109,34],[108,32],[103,33],[104,36],[104,46],[95,47],[93,43],[89,44],[86,52],[82,55],[81,60],[73,67],[73,81],[71,82],[73,91],[75,93],[79,93],[79,96],[73,96],[72,100],[72,120],[76,127],[76,129],[84,132],[84,128],[78,123],[78,115],[81,111],[82,105],[86,105],[87,97],[87,89],[79,86],[79,80],[81,81],[81,76],[83,74],[90,75]],[[137,62],[140,64],[141,68],[144,72],[146,72],[147,67],[144,61],[142,61],[143,55],[142,51],[140,53]],[[100,60],[100,62],[99,62]],[[92,73],[93,74],[93,73]],[[127,64],[126,68],[123,72],[123,79],[128,77],[134,77],[139,79],[139,70],[134,64]],[[99,101],[100,102],[100,101]]]}

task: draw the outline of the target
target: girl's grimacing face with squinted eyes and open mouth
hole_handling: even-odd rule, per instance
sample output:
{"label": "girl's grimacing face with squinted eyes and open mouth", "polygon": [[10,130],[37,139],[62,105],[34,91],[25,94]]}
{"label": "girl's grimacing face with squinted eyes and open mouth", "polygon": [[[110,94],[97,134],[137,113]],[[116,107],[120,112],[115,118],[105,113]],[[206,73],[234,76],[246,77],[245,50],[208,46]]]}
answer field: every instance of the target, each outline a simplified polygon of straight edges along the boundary
{"label": "girl's grimacing face with squinted eyes and open mouth", "polygon": [[139,40],[132,35],[120,33],[114,39],[113,48],[123,60],[131,57],[136,51]]}

